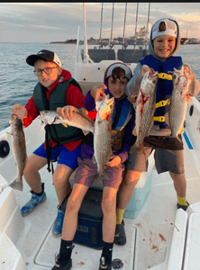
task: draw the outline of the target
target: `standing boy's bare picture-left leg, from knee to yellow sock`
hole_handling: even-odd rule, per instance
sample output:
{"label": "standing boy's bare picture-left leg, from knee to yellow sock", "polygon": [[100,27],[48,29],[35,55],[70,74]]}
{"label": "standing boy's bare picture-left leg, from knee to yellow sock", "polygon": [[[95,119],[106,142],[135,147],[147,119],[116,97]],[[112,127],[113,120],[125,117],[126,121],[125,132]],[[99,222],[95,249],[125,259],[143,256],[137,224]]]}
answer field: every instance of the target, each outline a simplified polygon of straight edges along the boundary
{"label": "standing boy's bare picture-left leg, from knee to yellow sock", "polygon": [[134,172],[128,169],[125,171],[123,182],[119,188],[117,208],[126,208],[126,205],[132,198],[132,193],[134,191],[135,185],[138,183],[138,180],[141,177],[141,174],[141,172]]}

